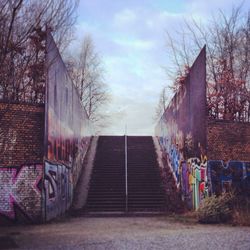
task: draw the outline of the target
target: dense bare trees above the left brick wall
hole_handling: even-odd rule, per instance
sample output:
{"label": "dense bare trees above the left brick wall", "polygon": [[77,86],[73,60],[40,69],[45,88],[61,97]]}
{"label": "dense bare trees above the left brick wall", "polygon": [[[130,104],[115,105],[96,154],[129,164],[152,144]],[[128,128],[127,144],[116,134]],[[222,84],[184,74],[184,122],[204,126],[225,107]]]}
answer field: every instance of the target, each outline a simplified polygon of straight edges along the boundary
{"label": "dense bare trees above the left brick wall", "polygon": [[0,99],[44,101],[45,30],[62,51],[71,40],[77,0],[0,2]]}

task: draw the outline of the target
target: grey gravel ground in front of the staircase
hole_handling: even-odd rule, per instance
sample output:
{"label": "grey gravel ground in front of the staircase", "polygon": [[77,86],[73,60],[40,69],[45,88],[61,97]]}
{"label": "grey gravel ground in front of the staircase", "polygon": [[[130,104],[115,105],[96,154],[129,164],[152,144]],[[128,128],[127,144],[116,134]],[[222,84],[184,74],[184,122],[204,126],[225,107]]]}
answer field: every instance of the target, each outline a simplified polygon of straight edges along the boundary
{"label": "grey gravel ground in front of the staircase", "polygon": [[[4,237],[4,238],[3,238]],[[250,249],[250,228],[183,223],[169,217],[80,217],[0,227],[0,249]],[[11,248],[8,248],[11,249]]]}

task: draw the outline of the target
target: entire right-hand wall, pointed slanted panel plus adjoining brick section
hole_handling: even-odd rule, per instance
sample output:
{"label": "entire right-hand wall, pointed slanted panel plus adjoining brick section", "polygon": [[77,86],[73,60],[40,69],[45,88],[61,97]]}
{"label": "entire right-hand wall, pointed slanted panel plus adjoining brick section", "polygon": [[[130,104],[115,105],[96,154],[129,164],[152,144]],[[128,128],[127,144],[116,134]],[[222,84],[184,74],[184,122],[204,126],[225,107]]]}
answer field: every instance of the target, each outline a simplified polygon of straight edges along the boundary
{"label": "entire right-hand wall, pointed slanted panel plus adjoining brick section", "polygon": [[250,195],[250,124],[206,115],[205,50],[156,127],[183,199],[198,208],[208,195]]}

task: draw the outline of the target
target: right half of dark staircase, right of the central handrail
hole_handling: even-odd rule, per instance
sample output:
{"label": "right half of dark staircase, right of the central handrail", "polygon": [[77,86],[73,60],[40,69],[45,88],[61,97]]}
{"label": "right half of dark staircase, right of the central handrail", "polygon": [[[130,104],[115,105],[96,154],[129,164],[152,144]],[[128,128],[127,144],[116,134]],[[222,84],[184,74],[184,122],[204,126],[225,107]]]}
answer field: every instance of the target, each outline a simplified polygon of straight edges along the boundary
{"label": "right half of dark staircase, right of the central handrail", "polygon": [[152,137],[128,137],[128,211],[163,211],[165,194]]}

